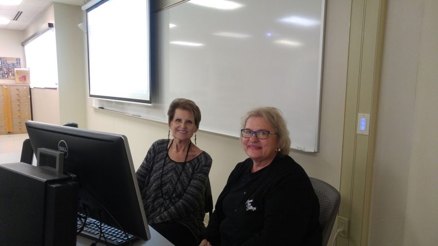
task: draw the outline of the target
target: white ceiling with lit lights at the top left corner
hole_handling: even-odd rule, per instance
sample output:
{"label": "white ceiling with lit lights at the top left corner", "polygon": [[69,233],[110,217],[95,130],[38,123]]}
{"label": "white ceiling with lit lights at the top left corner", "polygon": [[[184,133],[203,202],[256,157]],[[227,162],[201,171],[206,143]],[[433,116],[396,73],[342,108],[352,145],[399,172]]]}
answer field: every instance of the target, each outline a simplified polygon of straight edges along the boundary
{"label": "white ceiling with lit lights at the top left corner", "polygon": [[[35,18],[49,7],[52,2],[80,6],[87,2],[87,0],[22,0],[20,5],[2,4],[2,2],[5,1],[7,2],[8,0],[0,0],[0,18],[7,18],[11,21],[8,24],[0,23],[0,28],[12,30],[24,30]],[[20,11],[22,12],[21,15],[19,14]],[[18,19],[13,20],[15,17],[18,17]]]}

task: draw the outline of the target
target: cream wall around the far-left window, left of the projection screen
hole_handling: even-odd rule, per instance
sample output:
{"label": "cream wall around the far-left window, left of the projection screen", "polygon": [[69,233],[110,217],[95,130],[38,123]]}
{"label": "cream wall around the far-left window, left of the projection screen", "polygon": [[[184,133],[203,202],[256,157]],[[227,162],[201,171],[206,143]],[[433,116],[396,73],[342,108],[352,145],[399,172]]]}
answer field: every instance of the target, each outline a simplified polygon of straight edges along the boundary
{"label": "cream wall around the far-left window, left of the projection screen", "polygon": [[47,23],[55,24],[58,88],[32,89],[36,121],[76,122],[80,127],[87,127],[84,33],[77,26],[84,19],[80,6],[55,2],[23,31],[27,38]]}

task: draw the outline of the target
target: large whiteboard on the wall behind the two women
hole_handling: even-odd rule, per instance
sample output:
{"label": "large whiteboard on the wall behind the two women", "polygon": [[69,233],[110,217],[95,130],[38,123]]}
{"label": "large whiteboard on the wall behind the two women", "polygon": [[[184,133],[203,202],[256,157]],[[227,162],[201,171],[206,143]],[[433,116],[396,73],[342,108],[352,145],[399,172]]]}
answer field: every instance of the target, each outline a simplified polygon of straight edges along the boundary
{"label": "large whiteboard on the wall behind the two women", "polygon": [[325,0],[233,2],[240,6],[188,1],[152,14],[152,104],[93,99],[93,107],[167,123],[170,102],[188,98],[201,130],[238,137],[247,111],[274,106],[291,148],[317,152]]}

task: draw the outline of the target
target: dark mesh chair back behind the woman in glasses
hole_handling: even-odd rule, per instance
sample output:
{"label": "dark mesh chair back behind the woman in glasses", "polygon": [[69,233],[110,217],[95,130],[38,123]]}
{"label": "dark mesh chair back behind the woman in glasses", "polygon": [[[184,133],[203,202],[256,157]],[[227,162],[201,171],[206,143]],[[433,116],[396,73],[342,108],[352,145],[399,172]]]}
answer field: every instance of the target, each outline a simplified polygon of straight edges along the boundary
{"label": "dark mesh chair back behind the woman in glasses", "polygon": [[341,203],[341,194],[328,183],[310,177],[313,190],[319,201],[319,224],[322,228],[322,245],[327,246],[336,215]]}

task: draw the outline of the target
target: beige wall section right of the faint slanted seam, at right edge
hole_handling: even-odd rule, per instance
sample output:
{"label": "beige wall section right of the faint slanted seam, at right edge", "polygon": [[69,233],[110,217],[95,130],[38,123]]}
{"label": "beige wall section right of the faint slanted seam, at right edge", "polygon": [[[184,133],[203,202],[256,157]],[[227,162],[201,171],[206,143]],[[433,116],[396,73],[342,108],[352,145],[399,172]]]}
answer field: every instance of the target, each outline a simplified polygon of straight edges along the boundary
{"label": "beige wall section right of the faint slanted seam, at right edge", "polygon": [[404,246],[438,245],[438,1],[423,6]]}

